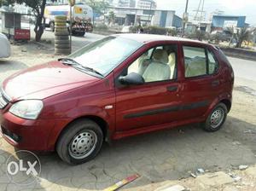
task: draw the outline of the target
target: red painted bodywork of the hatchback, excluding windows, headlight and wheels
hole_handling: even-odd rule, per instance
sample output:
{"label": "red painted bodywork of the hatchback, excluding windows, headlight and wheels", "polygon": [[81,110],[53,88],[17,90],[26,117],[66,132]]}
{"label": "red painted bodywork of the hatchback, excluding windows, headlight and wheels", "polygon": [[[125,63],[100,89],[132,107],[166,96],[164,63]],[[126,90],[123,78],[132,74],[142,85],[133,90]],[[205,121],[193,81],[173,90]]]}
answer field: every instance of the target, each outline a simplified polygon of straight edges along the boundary
{"label": "red painted bodywork of the hatchback, excluding windows, headlight and wheels", "polygon": [[[220,50],[207,43],[180,38],[142,34],[121,36],[137,40],[143,46],[105,78],[79,72],[61,61],[31,67],[7,78],[3,82],[3,91],[9,97],[9,104],[0,109],[3,137],[16,148],[53,151],[61,131],[75,119],[95,120],[109,140],[203,122],[220,101],[230,109],[234,73]],[[177,44],[177,80],[129,87],[115,84],[120,72],[146,49],[168,43]],[[184,78],[183,44],[210,49],[218,60],[218,73]],[[219,84],[212,85],[216,80]],[[177,86],[177,90],[168,91],[170,86]],[[29,99],[44,102],[38,119],[20,119],[9,113],[16,101]],[[197,105],[201,107],[193,107]],[[172,113],[143,115],[148,110],[154,112],[161,111],[162,107],[176,106],[178,108]],[[135,117],[134,113],[138,116]],[[20,141],[15,142],[8,132],[20,136]]]}

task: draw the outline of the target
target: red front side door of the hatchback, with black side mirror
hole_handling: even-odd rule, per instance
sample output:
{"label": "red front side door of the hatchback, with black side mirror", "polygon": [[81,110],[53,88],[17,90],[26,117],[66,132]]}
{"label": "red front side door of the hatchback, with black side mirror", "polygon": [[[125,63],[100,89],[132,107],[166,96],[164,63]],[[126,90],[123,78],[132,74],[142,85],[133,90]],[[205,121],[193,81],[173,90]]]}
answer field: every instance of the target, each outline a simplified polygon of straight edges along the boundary
{"label": "red front side door of the hatchback, with black side mirror", "polygon": [[[169,50],[167,49],[168,47]],[[151,80],[141,85],[119,84],[119,76],[125,76],[130,72],[141,72],[144,78],[148,78],[146,74],[150,71],[150,69],[148,69],[150,64],[154,64],[152,61],[154,60],[154,54],[156,55],[155,52],[166,52],[167,56],[175,53],[176,59],[174,62],[176,68],[175,71],[171,71],[170,69],[170,78]],[[166,55],[166,53],[164,55]],[[155,124],[170,123],[177,119],[179,115],[177,106],[181,104],[179,99],[180,84],[177,77],[177,68],[179,65],[177,55],[177,43],[151,47],[148,48],[143,55],[139,56],[136,61],[128,63],[123,69],[122,74],[117,75],[115,87],[116,131],[133,130],[143,127],[150,128],[150,126]],[[169,58],[166,62],[166,65],[171,68],[171,66],[169,66]],[[172,61],[172,63],[174,62]],[[141,65],[143,65],[143,67],[140,67]],[[169,69],[166,67],[166,70]],[[154,76],[154,74],[152,76]]]}

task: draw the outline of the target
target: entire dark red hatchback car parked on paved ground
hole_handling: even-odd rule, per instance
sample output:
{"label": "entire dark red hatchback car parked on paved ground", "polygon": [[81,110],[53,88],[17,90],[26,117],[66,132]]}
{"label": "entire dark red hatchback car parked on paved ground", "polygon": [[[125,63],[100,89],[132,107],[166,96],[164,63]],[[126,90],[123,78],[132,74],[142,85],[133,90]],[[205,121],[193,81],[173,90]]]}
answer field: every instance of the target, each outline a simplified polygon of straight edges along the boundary
{"label": "entire dark red hatchback car parked on paved ground", "polygon": [[56,150],[80,164],[96,156],[103,140],[190,123],[219,130],[233,84],[229,61],[210,44],[113,35],[5,79],[1,130],[16,148]]}

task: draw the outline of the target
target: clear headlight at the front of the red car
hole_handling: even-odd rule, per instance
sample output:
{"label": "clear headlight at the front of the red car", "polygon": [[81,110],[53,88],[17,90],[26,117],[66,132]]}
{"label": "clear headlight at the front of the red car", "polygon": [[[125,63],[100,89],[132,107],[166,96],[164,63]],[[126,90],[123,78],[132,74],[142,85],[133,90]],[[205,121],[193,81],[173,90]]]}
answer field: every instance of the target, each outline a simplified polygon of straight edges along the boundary
{"label": "clear headlight at the front of the red car", "polygon": [[43,101],[40,100],[18,101],[9,108],[9,113],[24,119],[37,119],[43,107]]}

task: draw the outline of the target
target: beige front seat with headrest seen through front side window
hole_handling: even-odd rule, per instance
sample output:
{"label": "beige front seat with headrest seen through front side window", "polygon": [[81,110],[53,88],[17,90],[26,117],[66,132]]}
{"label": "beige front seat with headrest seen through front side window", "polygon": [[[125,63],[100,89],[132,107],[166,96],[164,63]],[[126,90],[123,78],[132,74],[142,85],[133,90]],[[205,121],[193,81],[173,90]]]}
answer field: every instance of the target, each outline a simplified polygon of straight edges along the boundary
{"label": "beige front seat with headrest seen through front side window", "polygon": [[171,69],[168,66],[168,54],[164,49],[155,49],[153,61],[143,73],[145,82],[154,82],[170,79]]}

